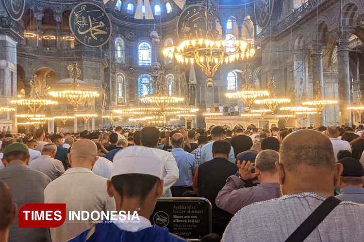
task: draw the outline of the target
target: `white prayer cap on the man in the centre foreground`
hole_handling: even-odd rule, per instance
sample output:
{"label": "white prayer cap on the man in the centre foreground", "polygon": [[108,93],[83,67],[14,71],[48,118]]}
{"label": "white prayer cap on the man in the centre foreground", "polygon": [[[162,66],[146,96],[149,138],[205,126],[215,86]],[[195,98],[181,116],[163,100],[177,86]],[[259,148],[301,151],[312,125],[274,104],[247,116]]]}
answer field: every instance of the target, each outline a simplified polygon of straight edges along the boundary
{"label": "white prayer cap on the man in the centre foreground", "polygon": [[127,147],[113,159],[111,177],[123,174],[145,174],[162,179],[162,165],[157,152],[144,146]]}

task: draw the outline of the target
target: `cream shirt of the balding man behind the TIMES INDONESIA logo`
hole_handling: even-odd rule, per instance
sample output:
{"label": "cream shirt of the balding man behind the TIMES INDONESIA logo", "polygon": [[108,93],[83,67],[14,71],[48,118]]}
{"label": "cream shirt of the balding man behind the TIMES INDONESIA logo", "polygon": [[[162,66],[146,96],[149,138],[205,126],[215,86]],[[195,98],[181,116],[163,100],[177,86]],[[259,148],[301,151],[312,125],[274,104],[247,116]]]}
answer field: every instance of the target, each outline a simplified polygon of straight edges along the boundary
{"label": "cream shirt of the balding man behind the TIMES INDONESIA logo", "polygon": [[[45,203],[66,203],[66,221],[60,227],[50,228],[52,242],[65,242],[93,227],[92,219],[80,224],[70,221],[69,211],[115,211],[114,197],[109,197],[107,179],[95,175],[87,168],[70,168],[44,190]],[[80,221],[81,222],[81,221]]]}

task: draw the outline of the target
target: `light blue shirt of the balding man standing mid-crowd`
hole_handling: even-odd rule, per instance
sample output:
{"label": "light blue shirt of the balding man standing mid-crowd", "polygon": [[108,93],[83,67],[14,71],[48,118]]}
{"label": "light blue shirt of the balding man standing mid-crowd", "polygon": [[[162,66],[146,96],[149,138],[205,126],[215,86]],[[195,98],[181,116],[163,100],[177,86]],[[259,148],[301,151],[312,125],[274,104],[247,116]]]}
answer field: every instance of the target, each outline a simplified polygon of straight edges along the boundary
{"label": "light blue shirt of the balding man standing mid-crowd", "polygon": [[178,169],[180,170],[180,178],[173,186],[192,186],[193,177],[198,166],[195,156],[183,151],[182,148],[174,148],[171,153],[176,159]]}

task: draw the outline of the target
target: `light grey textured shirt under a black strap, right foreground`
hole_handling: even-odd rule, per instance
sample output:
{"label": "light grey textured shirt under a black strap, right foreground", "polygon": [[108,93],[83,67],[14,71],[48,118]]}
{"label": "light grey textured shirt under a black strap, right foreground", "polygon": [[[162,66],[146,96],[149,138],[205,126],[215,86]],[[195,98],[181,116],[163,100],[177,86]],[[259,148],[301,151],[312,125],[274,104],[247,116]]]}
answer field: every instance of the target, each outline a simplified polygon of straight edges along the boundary
{"label": "light grey textured shirt under a black strap, right foreground", "polygon": [[[222,242],[283,242],[325,199],[301,193],[253,203],[232,217]],[[363,217],[363,204],[341,202],[305,242],[363,241]]]}

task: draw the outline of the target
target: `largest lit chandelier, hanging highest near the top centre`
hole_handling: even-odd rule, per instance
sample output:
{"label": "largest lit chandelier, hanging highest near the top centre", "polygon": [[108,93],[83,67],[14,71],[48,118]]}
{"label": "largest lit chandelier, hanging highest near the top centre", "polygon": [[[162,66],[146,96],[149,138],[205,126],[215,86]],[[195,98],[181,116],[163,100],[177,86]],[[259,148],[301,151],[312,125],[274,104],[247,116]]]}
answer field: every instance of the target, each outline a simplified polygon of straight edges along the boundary
{"label": "largest lit chandelier, hanging highest near the top centre", "polygon": [[207,86],[213,87],[213,77],[218,67],[225,61],[231,63],[237,60],[253,57],[255,49],[245,40],[218,39],[218,31],[213,30],[219,7],[214,0],[203,0],[200,5],[200,16],[206,22],[204,37],[183,40],[178,46],[167,46],[163,49],[165,58],[175,58],[180,63],[196,62],[207,77]]}

